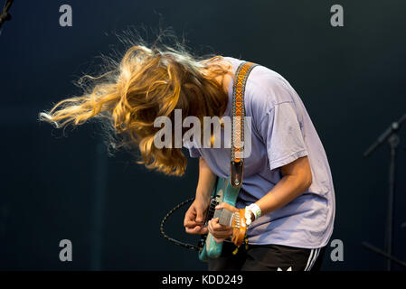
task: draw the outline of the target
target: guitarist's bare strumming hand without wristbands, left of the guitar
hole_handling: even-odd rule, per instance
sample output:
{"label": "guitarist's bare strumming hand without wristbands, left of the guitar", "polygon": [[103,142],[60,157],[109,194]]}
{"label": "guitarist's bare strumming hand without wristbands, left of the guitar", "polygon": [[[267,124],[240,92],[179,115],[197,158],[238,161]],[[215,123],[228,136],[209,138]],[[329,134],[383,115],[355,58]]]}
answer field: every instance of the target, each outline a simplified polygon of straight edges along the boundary
{"label": "guitarist's bare strumming hand without wristbands, left of the guitar", "polygon": [[210,199],[194,200],[184,215],[184,228],[189,234],[207,234],[204,219],[209,207]]}

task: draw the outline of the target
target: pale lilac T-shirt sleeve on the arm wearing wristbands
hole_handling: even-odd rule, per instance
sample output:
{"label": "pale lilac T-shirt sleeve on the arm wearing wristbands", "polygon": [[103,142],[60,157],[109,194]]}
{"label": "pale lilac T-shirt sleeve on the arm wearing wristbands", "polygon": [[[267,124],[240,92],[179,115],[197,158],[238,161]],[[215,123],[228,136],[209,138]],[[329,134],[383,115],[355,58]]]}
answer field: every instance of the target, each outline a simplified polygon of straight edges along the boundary
{"label": "pale lilac T-shirt sleeve on the arm wearing wristbands", "polygon": [[308,154],[294,103],[291,101],[272,107],[261,119],[258,130],[266,145],[270,170]]}

